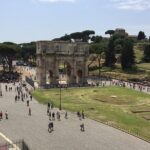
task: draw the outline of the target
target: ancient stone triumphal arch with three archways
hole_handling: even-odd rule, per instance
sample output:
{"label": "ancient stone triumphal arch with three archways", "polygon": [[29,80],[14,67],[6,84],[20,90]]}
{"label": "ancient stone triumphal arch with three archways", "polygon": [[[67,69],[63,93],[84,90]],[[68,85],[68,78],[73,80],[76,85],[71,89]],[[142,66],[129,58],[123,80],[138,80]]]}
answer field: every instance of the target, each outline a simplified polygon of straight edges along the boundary
{"label": "ancient stone triumphal arch with three archways", "polygon": [[38,41],[37,82],[40,87],[87,82],[89,44],[83,42]]}

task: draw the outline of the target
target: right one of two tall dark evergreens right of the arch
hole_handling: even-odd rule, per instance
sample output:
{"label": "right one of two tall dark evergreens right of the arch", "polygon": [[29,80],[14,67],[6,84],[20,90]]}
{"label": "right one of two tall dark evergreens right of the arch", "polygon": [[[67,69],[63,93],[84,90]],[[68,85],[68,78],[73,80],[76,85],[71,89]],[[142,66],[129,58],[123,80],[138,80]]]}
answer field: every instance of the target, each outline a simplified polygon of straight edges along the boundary
{"label": "right one of two tall dark evergreens right of the arch", "polygon": [[124,39],[121,52],[121,66],[123,70],[132,69],[135,65],[135,56],[133,50],[133,41],[129,38]]}

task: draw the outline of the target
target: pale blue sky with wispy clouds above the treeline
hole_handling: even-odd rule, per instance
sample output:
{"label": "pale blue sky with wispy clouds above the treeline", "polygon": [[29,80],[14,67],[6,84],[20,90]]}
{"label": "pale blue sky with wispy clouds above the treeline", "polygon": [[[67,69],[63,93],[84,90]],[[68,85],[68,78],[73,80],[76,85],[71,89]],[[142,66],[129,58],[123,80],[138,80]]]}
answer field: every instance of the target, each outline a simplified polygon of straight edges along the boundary
{"label": "pale blue sky with wispy clouds above the treeline", "polygon": [[124,28],[150,36],[150,0],[0,0],[0,42],[52,40],[72,32]]}

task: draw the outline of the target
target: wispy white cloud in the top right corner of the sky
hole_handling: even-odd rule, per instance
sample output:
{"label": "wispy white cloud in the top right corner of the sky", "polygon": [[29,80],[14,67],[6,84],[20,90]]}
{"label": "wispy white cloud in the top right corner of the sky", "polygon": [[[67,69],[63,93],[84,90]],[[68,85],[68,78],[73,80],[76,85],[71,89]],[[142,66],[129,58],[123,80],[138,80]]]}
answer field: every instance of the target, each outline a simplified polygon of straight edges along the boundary
{"label": "wispy white cloud in the top right corner of the sky", "polygon": [[150,9],[150,0],[110,0],[118,9],[146,10]]}

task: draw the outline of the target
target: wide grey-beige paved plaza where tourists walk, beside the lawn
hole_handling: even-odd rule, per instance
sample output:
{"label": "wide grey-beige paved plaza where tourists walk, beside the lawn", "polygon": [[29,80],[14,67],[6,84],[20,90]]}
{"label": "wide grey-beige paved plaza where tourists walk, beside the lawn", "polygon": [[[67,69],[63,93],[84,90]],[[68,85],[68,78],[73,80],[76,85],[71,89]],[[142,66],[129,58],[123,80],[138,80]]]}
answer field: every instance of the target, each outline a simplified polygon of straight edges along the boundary
{"label": "wide grey-beige paved plaza where tourists walk, beside the lawn", "polygon": [[[14,100],[14,88],[5,92],[2,84],[2,89],[0,111],[7,110],[9,119],[0,121],[0,132],[12,141],[24,139],[31,150],[150,150],[150,143],[99,122],[79,120],[73,113],[68,113],[65,119],[64,111],[61,121],[54,121],[54,131],[49,133],[47,106],[33,99],[30,101],[32,115],[28,116],[26,102]],[[81,123],[85,124],[85,132],[80,131]]]}

